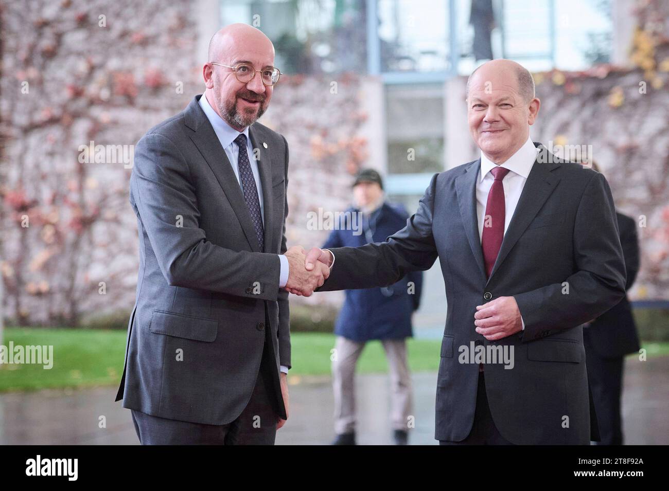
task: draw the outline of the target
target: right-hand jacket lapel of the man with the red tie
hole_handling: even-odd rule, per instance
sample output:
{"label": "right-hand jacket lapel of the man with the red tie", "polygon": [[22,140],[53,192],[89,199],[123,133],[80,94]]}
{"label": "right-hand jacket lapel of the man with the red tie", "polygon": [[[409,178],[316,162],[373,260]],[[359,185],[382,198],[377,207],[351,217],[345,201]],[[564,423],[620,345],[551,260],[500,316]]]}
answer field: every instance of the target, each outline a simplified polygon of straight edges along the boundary
{"label": "right-hand jacket lapel of the man with the red tie", "polygon": [[[551,196],[557,183],[560,182],[560,178],[551,174],[551,170],[560,165],[559,158],[551,154],[552,160],[547,160],[545,157],[546,154],[548,154],[548,150],[544,147],[539,148],[541,151],[537,154],[537,160],[535,160],[535,164],[532,166],[529,176],[527,176],[527,182],[525,182],[525,185],[522,188],[522,193],[520,193],[520,199],[518,199],[516,210],[508,224],[504,239],[502,240],[500,252],[492,267],[490,278],[492,278],[495,272],[499,269],[508,253],[514,247],[516,242],[518,242],[520,236],[532,220],[534,220],[535,216],[537,216],[537,213],[541,210],[541,207],[548,197]],[[546,153],[543,154],[543,152]],[[541,162],[553,163],[545,164]],[[489,281],[490,279],[488,279],[488,282]]]}

